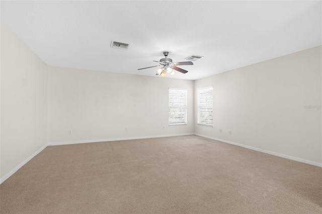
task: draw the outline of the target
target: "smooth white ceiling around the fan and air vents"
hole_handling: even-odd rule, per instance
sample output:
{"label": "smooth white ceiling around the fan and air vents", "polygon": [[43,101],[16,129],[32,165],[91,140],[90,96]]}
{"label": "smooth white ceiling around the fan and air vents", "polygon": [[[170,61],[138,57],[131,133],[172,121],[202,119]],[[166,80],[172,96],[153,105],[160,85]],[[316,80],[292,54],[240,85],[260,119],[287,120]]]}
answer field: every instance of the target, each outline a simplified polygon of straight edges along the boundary
{"label": "smooth white ceiling around the fan and air vents", "polygon": [[155,76],[137,69],[163,51],[204,56],[170,77],[191,80],[321,45],[322,25],[321,1],[1,1],[1,21],[51,66]]}

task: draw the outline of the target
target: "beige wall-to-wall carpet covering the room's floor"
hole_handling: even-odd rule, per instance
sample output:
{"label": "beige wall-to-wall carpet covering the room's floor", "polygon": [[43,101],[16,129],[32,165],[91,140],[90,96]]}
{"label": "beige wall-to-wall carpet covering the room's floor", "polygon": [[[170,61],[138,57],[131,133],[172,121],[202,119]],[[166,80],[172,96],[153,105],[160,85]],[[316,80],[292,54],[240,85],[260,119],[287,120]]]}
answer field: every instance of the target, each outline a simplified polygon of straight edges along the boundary
{"label": "beige wall-to-wall carpet covering the room's floor", "polygon": [[1,213],[322,213],[322,168],[198,136],[49,146]]}

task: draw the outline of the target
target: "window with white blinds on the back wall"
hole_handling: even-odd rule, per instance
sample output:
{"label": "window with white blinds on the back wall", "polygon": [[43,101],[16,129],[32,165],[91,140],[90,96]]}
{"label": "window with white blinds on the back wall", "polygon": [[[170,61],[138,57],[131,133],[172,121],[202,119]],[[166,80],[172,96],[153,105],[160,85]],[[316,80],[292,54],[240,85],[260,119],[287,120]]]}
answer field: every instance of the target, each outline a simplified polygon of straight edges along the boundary
{"label": "window with white blinds on the back wall", "polygon": [[169,125],[187,124],[187,89],[169,88]]}

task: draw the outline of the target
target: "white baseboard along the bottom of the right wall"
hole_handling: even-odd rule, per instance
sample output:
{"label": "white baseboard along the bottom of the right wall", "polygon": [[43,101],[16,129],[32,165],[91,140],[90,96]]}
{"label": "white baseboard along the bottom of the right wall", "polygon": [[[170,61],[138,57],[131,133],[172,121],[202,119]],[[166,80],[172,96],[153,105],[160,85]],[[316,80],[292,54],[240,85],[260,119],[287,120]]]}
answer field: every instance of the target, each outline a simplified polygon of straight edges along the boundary
{"label": "white baseboard along the bottom of the right wall", "polygon": [[200,134],[197,134],[197,133],[195,133],[195,135],[198,135],[198,136],[204,137],[204,138],[209,138],[209,139],[216,140],[216,141],[220,141],[220,142],[224,142],[224,143],[228,143],[228,144],[232,144],[232,145],[236,145],[236,146],[240,146],[240,147],[244,147],[244,148],[247,148],[247,149],[252,149],[252,150],[255,150],[255,151],[267,153],[267,154],[270,154],[270,155],[275,155],[275,156],[278,156],[278,157],[282,157],[282,158],[286,158],[286,159],[290,159],[290,160],[294,160],[294,161],[298,161],[298,162],[307,163],[307,164],[310,164],[310,165],[322,167],[322,163],[318,163],[318,162],[314,162],[314,161],[310,161],[310,160],[305,160],[305,159],[302,159],[302,158],[297,158],[297,157],[293,157],[293,156],[289,156],[289,155],[284,155],[284,154],[280,154],[280,153],[277,153],[277,152],[271,152],[271,151],[268,151],[268,150],[259,149],[259,148],[252,147],[252,146],[247,146],[247,145],[244,145],[244,144],[234,143],[234,142],[226,141],[226,140],[219,139],[219,138],[213,138],[213,137],[209,137],[209,136],[206,136],[206,135],[200,135]]}

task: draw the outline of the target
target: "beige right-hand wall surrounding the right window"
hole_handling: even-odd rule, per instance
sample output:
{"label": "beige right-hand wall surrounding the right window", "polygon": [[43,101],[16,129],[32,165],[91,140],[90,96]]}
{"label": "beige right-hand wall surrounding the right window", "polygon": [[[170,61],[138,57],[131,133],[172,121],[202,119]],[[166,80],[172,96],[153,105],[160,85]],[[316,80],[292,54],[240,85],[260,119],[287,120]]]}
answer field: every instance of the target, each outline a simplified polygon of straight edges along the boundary
{"label": "beige right-hand wall surrounding the right window", "polygon": [[321,109],[304,109],[321,105],[321,46],[196,80],[195,92],[210,85],[213,127],[195,133],[322,163]]}

